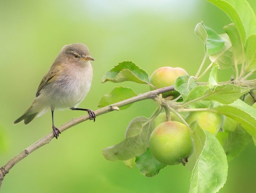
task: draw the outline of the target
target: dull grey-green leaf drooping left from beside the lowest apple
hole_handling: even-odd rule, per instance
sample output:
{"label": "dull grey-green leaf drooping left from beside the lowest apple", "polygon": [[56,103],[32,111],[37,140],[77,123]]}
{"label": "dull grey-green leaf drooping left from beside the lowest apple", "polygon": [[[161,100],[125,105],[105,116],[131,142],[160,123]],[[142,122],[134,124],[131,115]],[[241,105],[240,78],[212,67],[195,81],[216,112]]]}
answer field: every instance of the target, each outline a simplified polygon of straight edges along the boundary
{"label": "dull grey-green leaf drooping left from beside the lowest apple", "polygon": [[154,119],[151,119],[142,126],[139,134],[128,137],[121,143],[107,147],[102,150],[102,154],[107,160],[127,160],[143,154],[148,147],[149,137],[154,130]]}

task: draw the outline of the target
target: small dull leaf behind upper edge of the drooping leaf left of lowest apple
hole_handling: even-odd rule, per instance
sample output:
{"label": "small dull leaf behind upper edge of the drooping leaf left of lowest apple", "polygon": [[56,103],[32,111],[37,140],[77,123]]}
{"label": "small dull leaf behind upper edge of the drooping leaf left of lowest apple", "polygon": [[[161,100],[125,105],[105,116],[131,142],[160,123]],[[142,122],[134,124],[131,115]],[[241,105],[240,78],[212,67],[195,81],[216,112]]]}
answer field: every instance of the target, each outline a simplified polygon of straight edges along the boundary
{"label": "small dull leaf behind upper edge of the drooping leaf left of lowest apple", "polygon": [[128,125],[125,132],[125,139],[139,134],[144,123],[148,121],[147,117],[136,117]]}

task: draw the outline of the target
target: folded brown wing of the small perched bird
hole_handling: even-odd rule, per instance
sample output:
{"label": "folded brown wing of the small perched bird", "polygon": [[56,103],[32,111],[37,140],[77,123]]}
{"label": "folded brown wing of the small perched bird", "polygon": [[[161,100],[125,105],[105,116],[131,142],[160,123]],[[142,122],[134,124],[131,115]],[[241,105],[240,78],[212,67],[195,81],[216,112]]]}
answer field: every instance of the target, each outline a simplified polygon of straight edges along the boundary
{"label": "folded brown wing of the small perched bird", "polygon": [[47,86],[48,84],[52,83],[54,80],[57,79],[57,77],[60,75],[60,68],[59,66],[56,66],[54,68],[51,68],[50,71],[43,77],[43,79],[41,80],[41,83],[39,84],[39,87],[37,89],[37,93],[35,94],[35,96],[39,96],[40,95],[40,91]]}

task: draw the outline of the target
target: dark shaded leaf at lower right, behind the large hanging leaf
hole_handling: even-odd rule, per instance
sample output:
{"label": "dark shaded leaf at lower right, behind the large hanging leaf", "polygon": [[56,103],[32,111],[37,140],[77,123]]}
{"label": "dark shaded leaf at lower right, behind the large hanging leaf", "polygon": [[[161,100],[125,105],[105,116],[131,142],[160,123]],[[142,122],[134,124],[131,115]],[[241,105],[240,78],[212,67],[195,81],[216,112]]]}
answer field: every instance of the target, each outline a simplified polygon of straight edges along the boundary
{"label": "dark shaded leaf at lower right, behind the large hanging leaf", "polygon": [[238,125],[236,130],[228,134],[227,139],[223,144],[227,160],[231,161],[236,158],[242,151],[244,151],[251,139],[252,137],[246,130],[244,130],[241,125]]}

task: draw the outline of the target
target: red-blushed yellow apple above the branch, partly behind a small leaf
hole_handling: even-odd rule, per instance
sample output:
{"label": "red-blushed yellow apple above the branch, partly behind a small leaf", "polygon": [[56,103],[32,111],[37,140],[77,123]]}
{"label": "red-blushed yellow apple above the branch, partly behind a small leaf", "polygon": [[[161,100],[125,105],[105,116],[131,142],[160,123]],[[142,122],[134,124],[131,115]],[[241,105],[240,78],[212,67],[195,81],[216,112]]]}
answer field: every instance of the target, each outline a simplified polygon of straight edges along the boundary
{"label": "red-blushed yellow apple above the branch, partly behind a small leaf", "polygon": [[[150,77],[150,83],[156,88],[163,88],[172,86],[179,76],[188,75],[188,73],[182,68],[162,67],[158,68]],[[150,87],[150,90],[154,90]],[[173,95],[175,98],[180,95],[178,91],[170,91],[162,94],[163,98],[169,95]]]}

